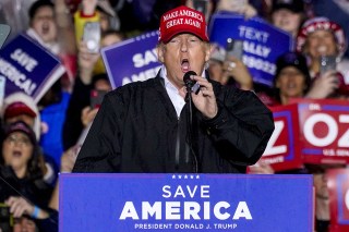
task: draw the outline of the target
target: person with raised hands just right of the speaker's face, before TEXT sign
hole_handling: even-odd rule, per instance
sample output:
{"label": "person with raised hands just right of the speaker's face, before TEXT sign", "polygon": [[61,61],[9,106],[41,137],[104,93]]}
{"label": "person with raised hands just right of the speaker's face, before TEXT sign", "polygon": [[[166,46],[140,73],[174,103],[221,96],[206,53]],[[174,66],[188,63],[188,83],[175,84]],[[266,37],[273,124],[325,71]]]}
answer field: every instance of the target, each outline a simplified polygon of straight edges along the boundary
{"label": "person with raised hands just right of the speaker's face, before TEXT sign", "polygon": [[208,61],[209,77],[222,85],[234,85],[244,90],[253,89],[253,80],[244,63],[236,57],[227,56],[226,49],[212,45]]}

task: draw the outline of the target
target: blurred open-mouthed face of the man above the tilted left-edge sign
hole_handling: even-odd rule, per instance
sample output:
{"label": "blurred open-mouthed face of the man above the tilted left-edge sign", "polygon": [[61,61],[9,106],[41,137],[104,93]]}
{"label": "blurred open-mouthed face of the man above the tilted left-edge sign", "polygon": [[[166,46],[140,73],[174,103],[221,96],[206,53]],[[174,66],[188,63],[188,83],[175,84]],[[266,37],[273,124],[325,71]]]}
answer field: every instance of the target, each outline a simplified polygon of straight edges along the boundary
{"label": "blurred open-mouthed face of the man above the tilted left-edge sign", "polygon": [[57,38],[57,25],[55,23],[53,9],[51,7],[39,8],[32,20],[32,27],[44,42],[55,41]]}

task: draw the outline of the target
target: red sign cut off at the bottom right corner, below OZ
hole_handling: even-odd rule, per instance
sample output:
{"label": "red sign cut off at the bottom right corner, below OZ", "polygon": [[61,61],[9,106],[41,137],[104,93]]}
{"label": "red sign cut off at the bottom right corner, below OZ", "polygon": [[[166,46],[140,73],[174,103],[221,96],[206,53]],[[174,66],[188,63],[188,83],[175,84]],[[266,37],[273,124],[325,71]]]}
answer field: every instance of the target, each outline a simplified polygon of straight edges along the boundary
{"label": "red sign cut off at the bottom right corner, below OZ", "polygon": [[329,169],[327,172],[330,231],[349,231],[349,170]]}

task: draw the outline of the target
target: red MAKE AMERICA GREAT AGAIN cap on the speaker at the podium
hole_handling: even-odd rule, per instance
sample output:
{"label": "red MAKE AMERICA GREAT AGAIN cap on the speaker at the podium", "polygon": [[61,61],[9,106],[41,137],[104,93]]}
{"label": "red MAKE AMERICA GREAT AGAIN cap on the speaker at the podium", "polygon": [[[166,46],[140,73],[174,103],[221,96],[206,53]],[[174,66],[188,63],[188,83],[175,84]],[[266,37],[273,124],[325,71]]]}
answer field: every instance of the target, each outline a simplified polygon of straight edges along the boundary
{"label": "red MAKE AMERICA GREAT AGAIN cap on the speaker at the podium", "polygon": [[205,15],[194,9],[181,5],[163,14],[159,27],[159,42],[168,42],[180,33],[190,33],[209,41]]}

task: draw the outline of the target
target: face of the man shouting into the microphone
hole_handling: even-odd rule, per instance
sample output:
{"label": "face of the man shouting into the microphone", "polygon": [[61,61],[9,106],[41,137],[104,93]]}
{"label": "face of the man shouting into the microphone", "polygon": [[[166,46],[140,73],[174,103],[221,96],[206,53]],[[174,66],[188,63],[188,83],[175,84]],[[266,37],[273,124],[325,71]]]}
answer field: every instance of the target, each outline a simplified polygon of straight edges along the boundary
{"label": "face of the man shouting into the microphone", "polygon": [[192,34],[179,34],[169,42],[159,45],[157,52],[159,61],[166,66],[167,77],[181,88],[184,73],[203,73],[205,62],[209,59],[209,44]]}

